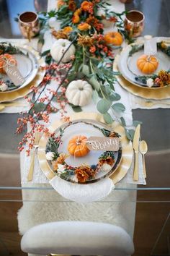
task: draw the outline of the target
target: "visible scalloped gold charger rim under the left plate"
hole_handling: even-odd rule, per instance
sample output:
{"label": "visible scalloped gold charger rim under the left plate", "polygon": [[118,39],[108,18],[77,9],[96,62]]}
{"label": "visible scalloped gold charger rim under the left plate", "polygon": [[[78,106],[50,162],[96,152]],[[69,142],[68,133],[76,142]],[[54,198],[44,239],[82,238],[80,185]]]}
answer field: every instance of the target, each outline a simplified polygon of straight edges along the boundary
{"label": "visible scalloped gold charger rim under the left plate", "polygon": [[28,85],[26,85],[24,88],[17,88],[16,90],[9,90],[7,92],[0,93],[0,102],[7,102],[7,101],[14,101],[17,100],[17,98],[22,98],[28,93],[31,93],[31,87],[34,85],[37,87],[40,85],[40,82],[42,82],[42,79],[45,75],[45,70],[42,70],[40,67],[45,66],[45,61],[43,58],[40,57],[40,55],[35,51],[31,46],[22,46],[22,48],[25,48],[32,52],[37,58],[37,62],[39,64],[39,69],[37,71],[37,74],[35,78],[30,82]]}

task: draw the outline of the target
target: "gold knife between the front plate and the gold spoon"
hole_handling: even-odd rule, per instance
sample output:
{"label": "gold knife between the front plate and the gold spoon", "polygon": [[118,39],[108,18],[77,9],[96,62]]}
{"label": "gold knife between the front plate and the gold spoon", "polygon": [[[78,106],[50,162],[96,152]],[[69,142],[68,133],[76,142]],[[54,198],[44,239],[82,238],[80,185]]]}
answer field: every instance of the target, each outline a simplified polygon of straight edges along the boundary
{"label": "gold knife between the front plate and the gold spoon", "polygon": [[135,151],[135,167],[133,171],[133,180],[138,181],[138,153],[139,153],[139,138],[140,138],[140,124],[135,129],[135,135],[133,138],[133,149]]}

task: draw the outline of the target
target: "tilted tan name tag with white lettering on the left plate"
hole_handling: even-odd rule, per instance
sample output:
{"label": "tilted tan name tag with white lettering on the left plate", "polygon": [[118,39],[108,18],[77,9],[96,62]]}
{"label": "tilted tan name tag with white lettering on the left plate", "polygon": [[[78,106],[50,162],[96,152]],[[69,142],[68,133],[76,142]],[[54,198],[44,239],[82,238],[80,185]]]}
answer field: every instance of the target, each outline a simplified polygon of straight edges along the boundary
{"label": "tilted tan name tag with white lettering on the left plate", "polygon": [[14,85],[22,85],[25,80],[24,77],[22,77],[22,74],[17,69],[17,66],[15,66],[12,61],[10,62],[10,59],[4,59],[4,61],[6,61],[6,64],[4,65],[3,69],[6,72],[7,76],[10,78],[10,80],[12,80]]}

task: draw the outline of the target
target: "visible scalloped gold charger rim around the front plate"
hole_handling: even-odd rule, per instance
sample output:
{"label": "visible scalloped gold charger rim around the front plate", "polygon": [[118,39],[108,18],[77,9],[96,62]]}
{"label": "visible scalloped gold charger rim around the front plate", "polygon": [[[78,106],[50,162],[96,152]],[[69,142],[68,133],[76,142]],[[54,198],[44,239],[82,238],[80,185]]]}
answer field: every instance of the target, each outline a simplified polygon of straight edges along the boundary
{"label": "visible scalloped gold charger rim around the front plate", "polygon": [[[71,121],[76,120],[84,120],[88,116],[88,120],[91,119],[91,121],[97,121],[100,124],[102,124],[103,127],[110,127],[110,129],[114,130],[115,132],[118,132],[121,137],[120,141],[122,144],[122,159],[120,162],[120,165],[115,170],[114,174],[110,176],[110,179],[112,179],[113,183],[116,184],[117,182],[120,182],[120,180],[127,174],[128,169],[130,168],[130,165],[132,163],[133,158],[133,147],[132,142],[130,142],[126,135],[125,135],[125,129],[118,124],[117,122],[114,122],[112,125],[107,126],[104,124],[104,119],[102,115],[97,113],[76,113],[70,116]],[[55,129],[58,127],[61,127],[62,124],[64,124],[65,121],[55,121],[51,127],[49,127],[50,132],[55,132]],[[39,148],[37,152],[37,158],[40,163],[40,168],[42,169],[43,173],[48,179],[53,179],[55,176],[53,170],[48,165],[48,161],[45,156],[45,149],[48,142],[48,135],[42,135],[39,143]]]}

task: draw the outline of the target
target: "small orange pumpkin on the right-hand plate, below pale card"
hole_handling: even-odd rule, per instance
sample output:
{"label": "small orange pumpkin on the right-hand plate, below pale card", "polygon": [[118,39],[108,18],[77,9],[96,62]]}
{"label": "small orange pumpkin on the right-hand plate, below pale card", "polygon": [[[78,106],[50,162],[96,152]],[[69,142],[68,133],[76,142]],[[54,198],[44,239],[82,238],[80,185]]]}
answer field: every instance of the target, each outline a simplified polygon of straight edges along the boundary
{"label": "small orange pumpkin on the right-hand plate, below pale card", "polygon": [[158,67],[156,56],[143,54],[137,61],[138,69],[144,74],[152,74]]}

